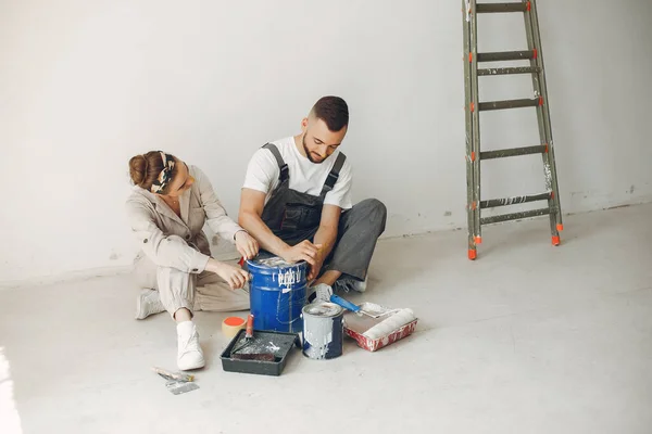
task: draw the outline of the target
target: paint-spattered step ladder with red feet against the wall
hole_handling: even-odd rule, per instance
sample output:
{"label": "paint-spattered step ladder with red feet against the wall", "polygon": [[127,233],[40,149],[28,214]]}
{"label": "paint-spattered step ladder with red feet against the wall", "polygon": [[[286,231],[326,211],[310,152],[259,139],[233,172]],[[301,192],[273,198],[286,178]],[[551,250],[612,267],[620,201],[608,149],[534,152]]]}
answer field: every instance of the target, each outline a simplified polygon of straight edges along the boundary
{"label": "paint-spattered step ladder with red feet against the wall", "polygon": [[[509,3],[477,3],[476,0],[462,0],[464,25],[464,88],[466,112],[466,186],[468,218],[468,258],[477,256],[477,245],[482,242],[482,225],[515,220],[536,216],[550,216],[552,244],[560,244],[560,231],[563,230],[562,212],[557,189],[552,129],[546,89],[546,73],[541,53],[541,36],[535,0],[523,0]],[[527,34],[528,49],[524,51],[477,52],[477,15],[481,13],[523,13]],[[478,68],[484,62],[529,60],[529,66]],[[509,74],[530,74],[532,77],[534,98],[509,101],[478,101],[478,77]],[[489,78],[490,79],[490,78]],[[538,145],[503,149],[498,151],[480,150],[480,113],[493,110],[536,107],[539,124]],[[481,200],[480,197],[480,162],[493,158],[506,158],[519,155],[541,154],[543,157],[543,175],[546,192],[505,199]],[[482,217],[482,209],[523,204],[526,202],[547,201],[548,206],[540,209],[521,213]]]}

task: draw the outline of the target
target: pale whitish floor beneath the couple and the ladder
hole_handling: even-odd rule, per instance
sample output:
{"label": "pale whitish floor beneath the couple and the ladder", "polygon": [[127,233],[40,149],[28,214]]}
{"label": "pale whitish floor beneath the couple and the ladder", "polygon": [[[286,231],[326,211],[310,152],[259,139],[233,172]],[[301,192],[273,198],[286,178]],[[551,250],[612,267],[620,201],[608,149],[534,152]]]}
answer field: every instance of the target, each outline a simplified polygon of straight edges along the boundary
{"label": "pale whitish floor beneath the couple and the ladder", "polygon": [[473,263],[464,231],[384,241],[354,301],[413,308],[414,335],[247,375],[200,312],[209,365],[179,396],[149,370],[174,367],[174,324],[131,318],[128,277],[1,291],[0,385],[24,433],[651,433],[651,217],[567,217],[560,247],[544,219],[485,228]]}

